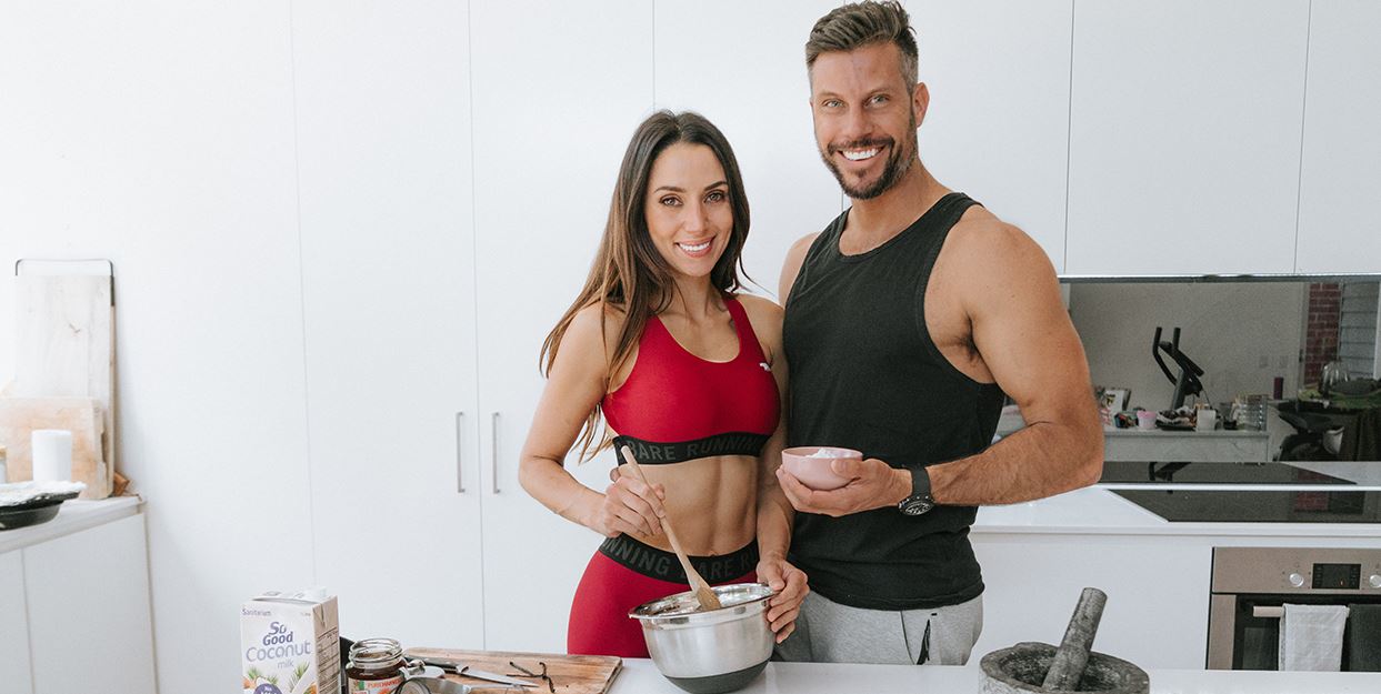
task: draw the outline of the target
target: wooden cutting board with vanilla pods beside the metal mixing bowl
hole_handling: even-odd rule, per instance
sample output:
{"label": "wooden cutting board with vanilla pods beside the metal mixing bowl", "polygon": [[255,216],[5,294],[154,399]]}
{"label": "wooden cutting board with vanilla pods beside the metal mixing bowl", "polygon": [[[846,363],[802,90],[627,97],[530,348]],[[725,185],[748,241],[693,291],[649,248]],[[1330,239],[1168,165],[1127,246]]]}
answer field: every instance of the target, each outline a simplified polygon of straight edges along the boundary
{"label": "wooden cutting board with vanilla pods beside the metal mixing bowl", "polygon": [[[557,694],[603,694],[609,690],[613,677],[623,668],[623,660],[612,655],[558,655],[554,653],[515,653],[515,651],[457,651],[450,648],[407,648],[409,658],[453,658],[471,665],[472,668],[497,672],[500,675],[514,675],[518,679],[530,680],[539,687],[528,688],[530,694],[551,694],[545,683],[537,679],[522,676],[510,661],[528,668],[532,672],[541,672],[539,662],[547,664],[547,675],[557,686]],[[476,680],[474,677],[457,677],[447,675],[446,679],[470,684],[475,690],[514,691],[511,687],[494,682]]]}

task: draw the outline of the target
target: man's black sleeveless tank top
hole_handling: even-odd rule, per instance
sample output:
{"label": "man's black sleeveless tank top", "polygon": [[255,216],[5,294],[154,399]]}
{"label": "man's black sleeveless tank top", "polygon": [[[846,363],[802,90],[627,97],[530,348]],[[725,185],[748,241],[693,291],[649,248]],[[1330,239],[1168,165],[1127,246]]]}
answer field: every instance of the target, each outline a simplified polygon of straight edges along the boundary
{"label": "man's black sleeveless tank top", "polygon": [[[894,468],[982,451],[1003,406],[996,384],[964,375],[925,327],[935,258],[969,206],[936,201],[911,226],[859,255],[840,252],[848,211],[811,244],[786,304],[791,368],[789,446],[842,446]],[[790,560],[811,589],[851,607],[920,610],[983,592],[968,527],[974,506],[921,516],[881,508],[844,517],[797,513]]]}

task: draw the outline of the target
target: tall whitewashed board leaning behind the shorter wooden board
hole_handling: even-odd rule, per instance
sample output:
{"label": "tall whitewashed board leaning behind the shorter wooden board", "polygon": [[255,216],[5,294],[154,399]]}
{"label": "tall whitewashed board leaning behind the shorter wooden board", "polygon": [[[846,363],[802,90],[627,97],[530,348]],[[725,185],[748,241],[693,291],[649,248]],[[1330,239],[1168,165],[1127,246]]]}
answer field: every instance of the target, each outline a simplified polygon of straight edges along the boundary
{"label": "tall whitewashed board leaning behind the shorter wooden board", "polygon": [[81,498],[105,498],[113,480],[116,430],[112,266],[22,259],[15,272],[15,377],[8,395],[97,401],[104,436],[95,461],[102,469],[83,480]]}

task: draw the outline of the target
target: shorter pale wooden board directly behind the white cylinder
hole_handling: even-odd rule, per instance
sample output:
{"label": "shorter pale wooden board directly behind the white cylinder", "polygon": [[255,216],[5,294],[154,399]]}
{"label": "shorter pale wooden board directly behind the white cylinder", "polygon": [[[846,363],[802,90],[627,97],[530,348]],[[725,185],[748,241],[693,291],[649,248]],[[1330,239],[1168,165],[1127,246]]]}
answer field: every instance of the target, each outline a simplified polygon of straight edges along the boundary
{"label": "shorter pale wooden board directly behind the white cylinder", "polygon": [[33,479],[30,435],[35,429],[72,432],[72,479],[84,482],[84,499],[104,499],[110,491],[101,457],[105,417],[91,397],[0,397],[0,443],[10,482]]}

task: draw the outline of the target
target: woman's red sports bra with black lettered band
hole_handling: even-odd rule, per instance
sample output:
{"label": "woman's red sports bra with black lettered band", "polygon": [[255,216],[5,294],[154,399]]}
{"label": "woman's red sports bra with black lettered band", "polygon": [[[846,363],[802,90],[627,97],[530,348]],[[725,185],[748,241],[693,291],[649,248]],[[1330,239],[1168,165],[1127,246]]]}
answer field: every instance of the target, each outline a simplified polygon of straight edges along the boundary
{"label": "woman's red sports bra with black lettered band", "polygon": [[624,446],[641,465],[762,453],[782,414],[776,379],[743,305],[724,304],[739,337],[731,361],[692,355],[657,316],[642,328],[628,379],[601,403],[620,464]]}

